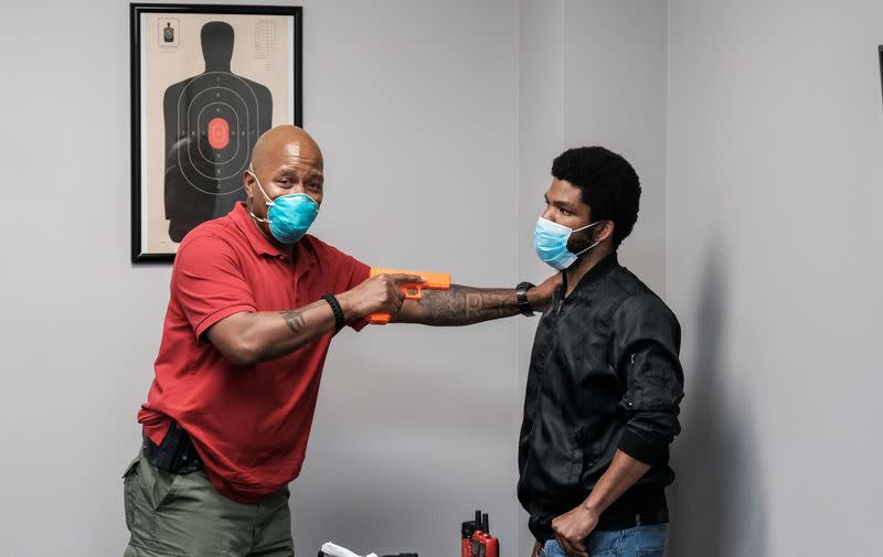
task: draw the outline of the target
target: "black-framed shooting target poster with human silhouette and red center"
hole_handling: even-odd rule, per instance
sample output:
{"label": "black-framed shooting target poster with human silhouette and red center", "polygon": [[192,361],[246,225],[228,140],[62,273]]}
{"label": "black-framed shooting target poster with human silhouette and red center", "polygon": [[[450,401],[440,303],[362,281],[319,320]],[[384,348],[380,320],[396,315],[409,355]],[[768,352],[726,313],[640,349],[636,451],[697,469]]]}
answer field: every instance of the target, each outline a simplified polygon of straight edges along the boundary
{"label": "black-framed shooting target poster with human silhouette and red center", "polygon": [[257,138],[302,124],[298,7],[129,6],[131,259],[172,261],[181,239],[245,199]]}

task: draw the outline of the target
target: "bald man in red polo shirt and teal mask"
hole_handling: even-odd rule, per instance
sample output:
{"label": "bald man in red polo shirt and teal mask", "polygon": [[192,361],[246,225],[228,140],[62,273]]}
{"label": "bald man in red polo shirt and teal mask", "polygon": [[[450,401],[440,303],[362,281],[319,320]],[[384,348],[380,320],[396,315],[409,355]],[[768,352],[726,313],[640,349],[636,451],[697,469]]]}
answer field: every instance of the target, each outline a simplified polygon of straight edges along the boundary
{"label": "bald man in red polo shirt and teal mask", "polygon": [[244,173],[247,200],[181,242],[138,414],[143,446],[124,475],[125,556],[292,556],[287,485],[334,334],[377,312],[430,325],[529,314],[560,283],[455,285],[405,300],[401,286],[419,277],[369,278],[366,265],[306,234],[322,168],[300,128],[267,131]]}

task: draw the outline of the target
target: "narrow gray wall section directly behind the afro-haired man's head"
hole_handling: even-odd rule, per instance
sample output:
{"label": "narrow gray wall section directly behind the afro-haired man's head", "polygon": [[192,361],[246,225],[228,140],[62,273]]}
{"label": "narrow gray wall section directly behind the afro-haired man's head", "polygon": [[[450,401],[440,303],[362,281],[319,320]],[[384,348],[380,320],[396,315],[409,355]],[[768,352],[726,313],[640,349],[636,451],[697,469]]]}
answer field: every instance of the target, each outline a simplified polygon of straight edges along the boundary
{"label": "narrow gray wall section directly behind the afro-haired man's head", "polygon": [[[623,154],[641,179],[641,212],[620,260],[664,290],[666,2],[522,0],[519,78],[519,275],[549,267],[533,253],[552,160],[564,149],[600,144]],[[536,319],[518,322],[519,407]],[[519,551],[533,539],[520,512]]]}

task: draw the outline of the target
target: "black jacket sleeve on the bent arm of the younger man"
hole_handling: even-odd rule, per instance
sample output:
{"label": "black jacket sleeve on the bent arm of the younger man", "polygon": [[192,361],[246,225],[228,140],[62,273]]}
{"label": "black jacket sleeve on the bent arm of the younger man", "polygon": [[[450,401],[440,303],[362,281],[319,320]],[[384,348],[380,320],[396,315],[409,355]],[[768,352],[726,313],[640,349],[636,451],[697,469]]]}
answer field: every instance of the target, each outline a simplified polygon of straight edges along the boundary
{"label": "black jacket sleeve on the bent arm of the younger man", "polygon": [[681,431],[680,324],[662,300],[641,293],[615,312],[613,333],[614,363],[626,382],[619,406],[628,420],[618,448],[652,465]]}

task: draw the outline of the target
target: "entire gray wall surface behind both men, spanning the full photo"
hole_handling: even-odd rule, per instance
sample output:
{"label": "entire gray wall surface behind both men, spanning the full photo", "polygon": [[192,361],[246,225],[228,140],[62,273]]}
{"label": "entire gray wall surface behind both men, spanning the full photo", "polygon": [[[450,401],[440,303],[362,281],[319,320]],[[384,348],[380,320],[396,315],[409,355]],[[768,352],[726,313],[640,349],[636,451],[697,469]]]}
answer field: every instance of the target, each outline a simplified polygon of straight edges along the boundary
{"label": "entire gray wall surface behind both men, spanning the full photo", "polygon": [[[645,186],[623,259],[684,329],[670,554],[879,553],[883,6],[305,4],[323,238],[460,282],[539,280],[551,159],[621,152]],[[169,278],[128,263],[128,6],[0,13],[19,22],[0,34],[18,79],[0,94],[0,554],[119,555]],[[450,555],[479,505],[526,555],[514,459],[534,326],[344,333],[292,485],[301,555],[331,538]]]}

